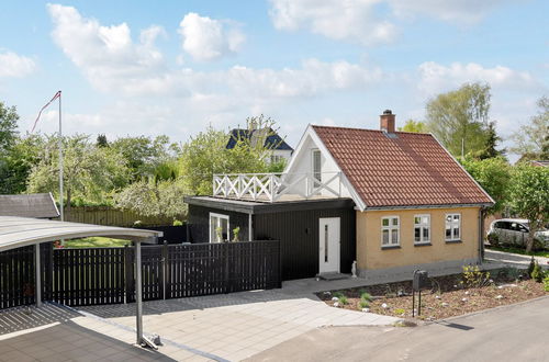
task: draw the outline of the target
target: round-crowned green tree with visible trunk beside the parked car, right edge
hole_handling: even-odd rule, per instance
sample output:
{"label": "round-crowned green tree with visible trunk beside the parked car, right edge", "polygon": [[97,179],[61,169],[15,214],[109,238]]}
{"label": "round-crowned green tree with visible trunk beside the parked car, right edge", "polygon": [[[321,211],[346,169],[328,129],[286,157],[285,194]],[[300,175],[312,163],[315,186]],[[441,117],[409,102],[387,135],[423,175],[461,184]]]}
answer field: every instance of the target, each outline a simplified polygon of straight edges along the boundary
{"label": "round-crowned green tree with visible trunk beside the parked car, right edge", "polygon": [[509,206],[529,220],[526,251],[530,252],[534,234],[549,223],[549,168],[519,165],[509,185]]}

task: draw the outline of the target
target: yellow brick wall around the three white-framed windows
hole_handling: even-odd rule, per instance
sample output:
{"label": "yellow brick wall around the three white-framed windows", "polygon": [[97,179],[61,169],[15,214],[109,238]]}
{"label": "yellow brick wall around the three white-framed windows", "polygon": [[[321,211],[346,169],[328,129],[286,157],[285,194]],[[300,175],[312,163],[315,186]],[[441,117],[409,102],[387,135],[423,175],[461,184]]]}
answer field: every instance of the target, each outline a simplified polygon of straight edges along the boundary
{"label": "yellow brick wall around the three white-framed windows", "polygon": [[[445,216],[461,214],[461,241],[445,241]],[[479,256],[480,207],[426,208],[400,211],[357,211],[358,269],[383,269],[446,260],[473,259]],[[414,215],[430,215],[432,246],[414,246]],[[400,217],[400,248],[381,248],[381,217]]]}

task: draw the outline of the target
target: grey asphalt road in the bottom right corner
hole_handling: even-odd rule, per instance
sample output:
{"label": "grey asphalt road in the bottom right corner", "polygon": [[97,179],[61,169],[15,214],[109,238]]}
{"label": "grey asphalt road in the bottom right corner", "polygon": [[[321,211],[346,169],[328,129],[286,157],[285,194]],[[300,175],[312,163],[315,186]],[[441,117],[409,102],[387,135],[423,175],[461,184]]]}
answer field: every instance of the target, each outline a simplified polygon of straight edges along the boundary
{"label": "grey asphalt road in the bottom right corner", "polygon": [[250,361],[549,361],[549,297],[418,327],[329,327]]}

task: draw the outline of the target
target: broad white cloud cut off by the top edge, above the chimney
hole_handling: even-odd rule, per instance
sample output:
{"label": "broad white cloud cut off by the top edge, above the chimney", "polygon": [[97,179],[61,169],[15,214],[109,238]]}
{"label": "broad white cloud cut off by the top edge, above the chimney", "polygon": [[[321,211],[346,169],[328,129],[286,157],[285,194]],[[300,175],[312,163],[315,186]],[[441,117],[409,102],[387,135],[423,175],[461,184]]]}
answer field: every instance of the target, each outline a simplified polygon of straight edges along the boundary
{"label": "broad white cloud cut off by the top edge, above the chimney", "polygon": [[[361,45],[392,42],[396,22],[427,15],[471,25],[511,0],[270,0],[269,14],[278,30],[307,30],[336,41]],[[515,0],[516,1],[516,0]]]}

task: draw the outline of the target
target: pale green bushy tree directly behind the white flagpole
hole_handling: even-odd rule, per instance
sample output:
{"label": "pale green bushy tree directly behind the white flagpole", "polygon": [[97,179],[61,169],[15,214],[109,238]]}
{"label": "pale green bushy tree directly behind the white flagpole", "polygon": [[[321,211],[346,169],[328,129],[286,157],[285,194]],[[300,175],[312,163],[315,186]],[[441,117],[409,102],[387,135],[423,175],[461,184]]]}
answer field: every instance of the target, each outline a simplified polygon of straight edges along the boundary
{"label": "pale green bushy tree directly behind the white flagpole", "polygon": [[[59,154],[57,137],[47,138],[40,162],[29,176],[29,192],[59,190]],[[127,184],[130,172],[120,152],[109,147],[97,147],[86,135],[65,137],[64,200],[70,210],[72,199],[92,203],[108,203],[110,193]]]}

